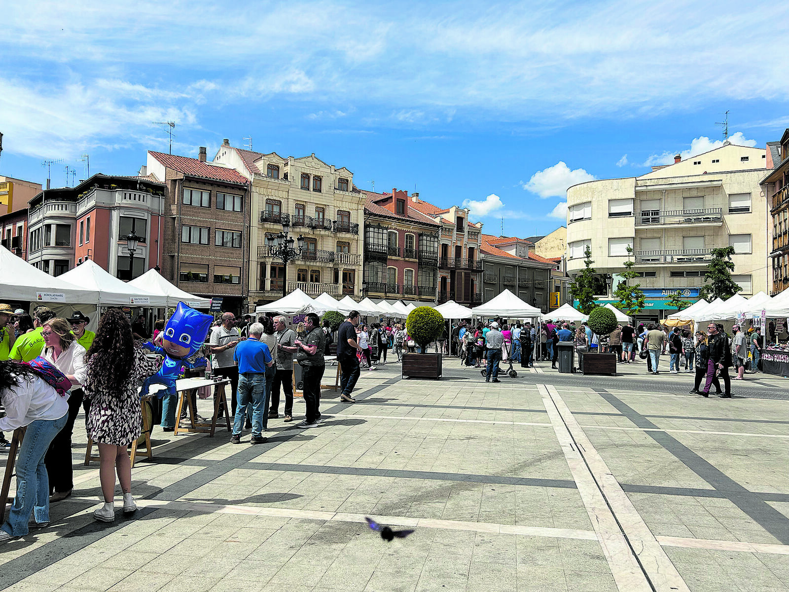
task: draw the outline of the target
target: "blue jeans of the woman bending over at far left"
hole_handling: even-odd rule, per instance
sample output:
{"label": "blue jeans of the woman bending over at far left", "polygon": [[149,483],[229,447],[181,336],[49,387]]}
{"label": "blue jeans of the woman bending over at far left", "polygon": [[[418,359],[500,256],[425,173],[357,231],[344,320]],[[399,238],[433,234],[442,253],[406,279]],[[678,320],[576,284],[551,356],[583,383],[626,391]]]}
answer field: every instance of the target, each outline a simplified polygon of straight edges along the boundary
{"label": "blue jeans of the woman bending over at far left", "polygon": [[28,425],[17,458],[17,495],[2,530],[15,537],[28,534],[30,515],[37,523],[49,522],[49,476],[44,457],[50,443],[69,421],[69,414],[59,419],[37,419]]}

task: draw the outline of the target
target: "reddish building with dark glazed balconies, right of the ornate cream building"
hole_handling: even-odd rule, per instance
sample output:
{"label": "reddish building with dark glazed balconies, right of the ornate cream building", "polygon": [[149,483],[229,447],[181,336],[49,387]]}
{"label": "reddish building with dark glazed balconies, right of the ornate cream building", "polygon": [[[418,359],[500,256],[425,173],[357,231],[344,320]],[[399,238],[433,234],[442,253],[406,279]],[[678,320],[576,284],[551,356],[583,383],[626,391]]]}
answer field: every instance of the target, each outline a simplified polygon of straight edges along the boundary
{"label": "reddish building with dark glazed balconies, right of the ornate cream building", "polygon": [[362,191],[365,201],[365,295],[446,302],[436,294],[439,230],[434,219],[411,208],[407,191]]}

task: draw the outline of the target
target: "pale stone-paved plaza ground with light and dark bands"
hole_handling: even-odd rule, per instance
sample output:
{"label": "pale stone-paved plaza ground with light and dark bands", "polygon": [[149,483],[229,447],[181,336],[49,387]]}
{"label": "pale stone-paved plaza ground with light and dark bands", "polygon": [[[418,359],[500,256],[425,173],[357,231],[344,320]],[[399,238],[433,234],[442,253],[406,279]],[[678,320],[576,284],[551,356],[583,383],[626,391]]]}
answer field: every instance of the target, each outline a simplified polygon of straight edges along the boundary
{"label": "pale stone-paved plaza ground with light and dark bands", "polygon": [[[783,380],[725,400],[642,365],[517,369],[384,366],[356,405],[324,392],[323,424],[271,420],[258,446],[157,429],[140,511],[95,523],[98,470],[80,464],[50,527],[0,549],[0,589],[789,590]],[[416,532],[387,543],[365,515]]]}

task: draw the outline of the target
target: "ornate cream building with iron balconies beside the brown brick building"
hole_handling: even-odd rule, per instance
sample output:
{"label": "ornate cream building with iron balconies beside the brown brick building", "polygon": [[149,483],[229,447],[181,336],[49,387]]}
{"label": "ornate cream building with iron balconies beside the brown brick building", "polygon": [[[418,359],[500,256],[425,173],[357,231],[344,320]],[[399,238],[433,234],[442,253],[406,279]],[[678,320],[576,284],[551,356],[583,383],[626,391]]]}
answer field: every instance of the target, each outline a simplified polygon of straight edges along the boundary
{"label": "ornate cream building with iron balconies beside the brown brick building", "polygon": [[[234,168],[252,185],[250,308],[296,288],[312,297],[323,292],[336,298],[361,296],[366,197],[353,186],[350,170],[314,154],[285,158],[234,148],[227,140],[214,162]],[[301,255],[287,268],[272,255],[283,223],[294,239],[304,238]]]}

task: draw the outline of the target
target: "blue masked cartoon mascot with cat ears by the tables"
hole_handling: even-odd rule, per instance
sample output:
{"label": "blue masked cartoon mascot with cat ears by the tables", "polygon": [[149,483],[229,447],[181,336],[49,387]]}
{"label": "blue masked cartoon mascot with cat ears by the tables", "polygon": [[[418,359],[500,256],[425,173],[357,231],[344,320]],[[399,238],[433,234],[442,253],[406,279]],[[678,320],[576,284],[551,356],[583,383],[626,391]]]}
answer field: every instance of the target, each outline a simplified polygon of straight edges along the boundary
{"label": "blue masked cartoon mascot with cat ears by the tables", "polygon": [[147,395],[151,384],[165,386],[156,395],[159,399],[167,395],[162,405],[162,428],[167,431],[171,431],[175,427],[175,395],[178,394],[175,381],[178,380],[185,368],[204,368],[206,365],[205,358],[199,358],[194,363],[188,362],[187,358],[194,355],[203,346],[213,322],[214,317],[211,317],[210,314],[198,313],[183,302],[178,302],[175,313],[165,325],[163,347],[159,347],[151,341],[142,346],[146,350],[164,356],[164,362],[159,372],[145,380],[140,393]]}

